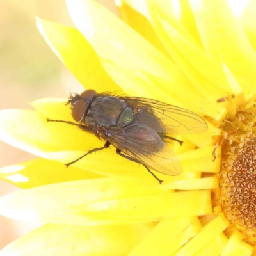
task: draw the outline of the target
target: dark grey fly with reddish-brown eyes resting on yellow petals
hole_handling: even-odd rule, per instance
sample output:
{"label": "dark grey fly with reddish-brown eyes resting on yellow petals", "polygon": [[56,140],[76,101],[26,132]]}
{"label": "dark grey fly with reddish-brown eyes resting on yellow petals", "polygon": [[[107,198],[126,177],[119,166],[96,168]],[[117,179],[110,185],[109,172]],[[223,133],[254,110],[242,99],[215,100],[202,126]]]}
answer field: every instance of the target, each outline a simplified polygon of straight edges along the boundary
{"label": "dark grey fly with reddish-brown eyes resting on yellow petals", "polygon": [[166,175],[182,173],[182,166],[166,145],[166,139],[178,141],[182,145],[182,141],[172,138],[172,134],[207,131],[205,120],[196,113],[158,100],[116,97],[90,89],[80,95],[71,95],[67,104],[70,104],[74,121],[79,124],[63,120],[48,121],[76,125],[106,142],[103,147],[89,150],[66,166],[113,145],[118,155],[142,164],[161,184],[163,180],[151,170]]}

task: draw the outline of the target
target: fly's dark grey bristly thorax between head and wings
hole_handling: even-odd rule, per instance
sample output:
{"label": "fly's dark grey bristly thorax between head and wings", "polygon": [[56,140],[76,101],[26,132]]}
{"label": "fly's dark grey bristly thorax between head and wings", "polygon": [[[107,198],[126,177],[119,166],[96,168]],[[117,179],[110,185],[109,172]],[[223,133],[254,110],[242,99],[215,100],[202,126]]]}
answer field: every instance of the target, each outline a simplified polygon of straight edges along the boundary
{"label": "fly's dark grey bristly thorax between head and wings", "polygon": [[106,129],[113,126],[124,127],[132,120],[132,111],[126,106],[124,100],[109,95],[99,95],[93,99],[85,117],[86,124],[91,127]]}

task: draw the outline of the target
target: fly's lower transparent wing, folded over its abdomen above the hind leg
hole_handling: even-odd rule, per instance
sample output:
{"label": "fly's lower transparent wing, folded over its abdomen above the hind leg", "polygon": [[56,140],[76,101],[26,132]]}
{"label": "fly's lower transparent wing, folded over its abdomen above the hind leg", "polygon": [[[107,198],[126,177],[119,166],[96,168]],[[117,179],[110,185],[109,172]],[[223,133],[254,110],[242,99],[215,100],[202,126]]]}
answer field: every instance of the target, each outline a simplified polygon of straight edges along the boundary
{"label": "fly's lower transparent wing, folded over its abdomen above the hind leg", "polygon": [[107,140],[141,164],[166,175],[182,173],[179,160],[155,131],[134,124],[114,133]]}

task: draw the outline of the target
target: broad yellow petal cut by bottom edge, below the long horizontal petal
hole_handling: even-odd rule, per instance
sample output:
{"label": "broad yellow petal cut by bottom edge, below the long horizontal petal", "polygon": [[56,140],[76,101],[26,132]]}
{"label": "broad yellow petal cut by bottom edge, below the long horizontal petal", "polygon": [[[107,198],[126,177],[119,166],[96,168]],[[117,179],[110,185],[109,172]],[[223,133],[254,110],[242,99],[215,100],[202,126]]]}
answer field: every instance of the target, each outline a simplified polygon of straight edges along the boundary
{"label": "broad yellow petal cut by bottom edge, below the long horizontal petal", "polygon": [[[196,218],[196,217],[195,217]],[[164,218],[133,248],[128,256],[169,256],[191,238],[194,218]],[[200,222],[198,221],[199,225]],[[201,225],[197,227],[197,232]]]}

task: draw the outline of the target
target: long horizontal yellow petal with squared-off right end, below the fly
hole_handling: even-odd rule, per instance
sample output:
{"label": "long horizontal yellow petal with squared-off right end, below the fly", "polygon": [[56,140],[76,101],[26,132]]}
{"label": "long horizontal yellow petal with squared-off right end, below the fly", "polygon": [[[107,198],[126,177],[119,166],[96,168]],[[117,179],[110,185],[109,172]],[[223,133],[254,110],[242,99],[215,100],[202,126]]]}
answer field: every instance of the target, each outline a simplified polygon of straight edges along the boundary
{"label": "long horizontal yellow petal with squared-off right end, below the fly", "polygon": [[151,196],[106,200],[89,204],[84,210],[95,216],[115,218],[129,216],[131,219],[140,216],[151,217],[152,220],[161,217],[199,216],[212,211],[210,191],[166,192]]}

